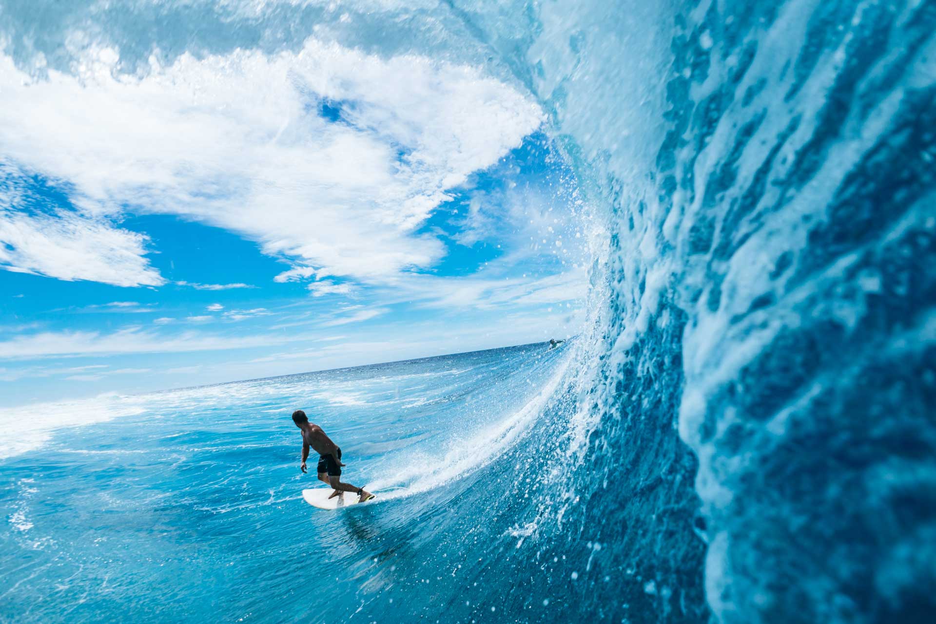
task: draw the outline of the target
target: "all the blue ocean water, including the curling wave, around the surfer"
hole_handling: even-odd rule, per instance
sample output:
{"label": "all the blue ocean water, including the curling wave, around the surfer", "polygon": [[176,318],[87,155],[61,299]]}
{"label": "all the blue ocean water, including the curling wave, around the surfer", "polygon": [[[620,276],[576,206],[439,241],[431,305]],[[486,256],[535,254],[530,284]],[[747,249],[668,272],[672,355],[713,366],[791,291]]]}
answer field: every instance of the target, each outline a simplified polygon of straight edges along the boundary
{"label": "all the blue ocean water, including the curling wave, around the surfer", "polygon": [[[0,620],[929,621],[936,2],[193,2],[154,35],[158,5],[109,13],[128,70],[316,23],[530,94],[587,198],[588,318],[5,413]],[[379,503],[304,506],[296,407]]]}

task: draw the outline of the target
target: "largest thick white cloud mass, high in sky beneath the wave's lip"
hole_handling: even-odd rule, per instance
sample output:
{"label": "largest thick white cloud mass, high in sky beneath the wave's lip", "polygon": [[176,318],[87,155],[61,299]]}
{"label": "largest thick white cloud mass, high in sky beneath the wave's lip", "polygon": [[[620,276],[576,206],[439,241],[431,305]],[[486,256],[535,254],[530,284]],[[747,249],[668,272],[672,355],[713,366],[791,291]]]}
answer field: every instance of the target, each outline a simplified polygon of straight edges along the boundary
{"label": "largest thick white cloud mass, high in sky beneath the wave's lip", "polygon": [[[142,257],[145,238],[104,219],[129,205],[256,240],[294,263],[279,281],[379,281],[437,261],[444,246],[419,225],[542,119],[532,100],[475,68],[312,39],[297,53],[153,61],[143,78],[115,77],[116,59],[90,50],[78,77],[30,82],[0,58],[5,154],[72,185],[82,210],[6,215],[16,224],[2,230],[14,248],[0,257],[7,268],[163,283]],[[319,98],[352,103],[342,123],[314,112]]]}

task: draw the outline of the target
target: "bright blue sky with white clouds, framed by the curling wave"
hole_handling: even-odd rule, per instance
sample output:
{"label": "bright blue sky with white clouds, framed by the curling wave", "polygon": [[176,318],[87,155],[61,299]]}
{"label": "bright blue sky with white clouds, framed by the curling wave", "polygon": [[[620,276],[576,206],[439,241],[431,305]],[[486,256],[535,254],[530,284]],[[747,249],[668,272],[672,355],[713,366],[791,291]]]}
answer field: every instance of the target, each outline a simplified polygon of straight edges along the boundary
{"label": "bright blue sky with white clouds, framed by the curling wave", "polygon": [[0,55],[0,404],[577,330],[585,207],[516,87],[314,39],[81,53]]}

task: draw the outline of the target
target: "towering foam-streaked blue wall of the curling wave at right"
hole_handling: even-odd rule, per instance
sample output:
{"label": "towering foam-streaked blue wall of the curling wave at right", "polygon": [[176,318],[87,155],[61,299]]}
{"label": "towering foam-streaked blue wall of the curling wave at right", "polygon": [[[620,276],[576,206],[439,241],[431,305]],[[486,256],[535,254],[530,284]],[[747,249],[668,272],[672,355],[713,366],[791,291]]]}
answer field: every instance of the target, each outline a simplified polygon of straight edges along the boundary
{"label": "towering foam-streaked blue wall of the curling wave at right", "polygon": [[629,8],[526,51],[607,210],[589,452],[678,414],[721,621],[924,621],[936,7]]}

